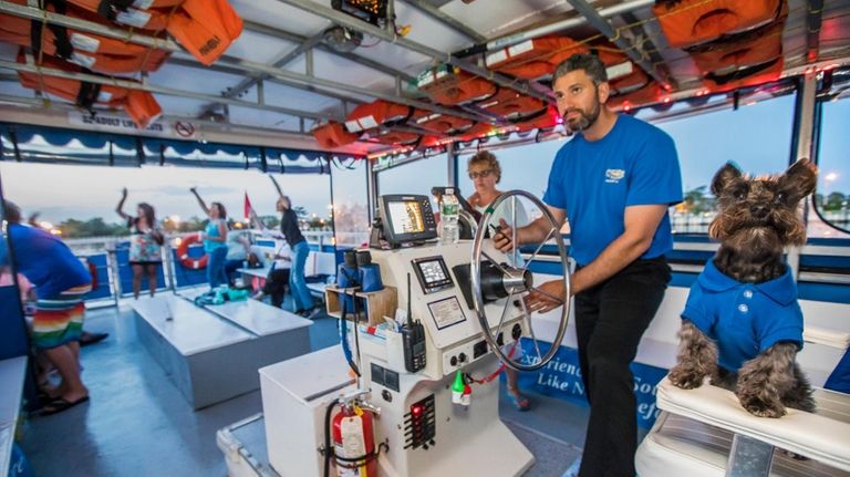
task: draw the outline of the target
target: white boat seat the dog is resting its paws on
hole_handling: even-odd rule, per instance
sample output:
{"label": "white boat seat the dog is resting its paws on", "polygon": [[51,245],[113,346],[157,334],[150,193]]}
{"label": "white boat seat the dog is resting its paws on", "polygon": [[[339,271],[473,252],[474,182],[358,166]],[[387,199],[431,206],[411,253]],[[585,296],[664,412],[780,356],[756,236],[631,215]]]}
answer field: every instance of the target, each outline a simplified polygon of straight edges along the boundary
{"label": "white boat seat the dog is resting its paws on", "polygon": [[[676,466],[685,466],[690,477],[723,475],[728,458],[728,443],[724,444],[723,436],[730,439],[739,434],[812,459],[779,466],[777,460],[782,457],[776,453],[770,475],[850,476],[850,395],[817,390],[816,413],[789,408],[778,419],[749,414],[732,392],[707,383],[685,391],[665,377],[659,383],[656,397],[664,413],[635,457],[640,475],[684,475],[672,470]],[[663,431],[670,415],[692,423],[680,426],[681,432],[674,425]],[[666,471],[659,474],[662,469]]]}

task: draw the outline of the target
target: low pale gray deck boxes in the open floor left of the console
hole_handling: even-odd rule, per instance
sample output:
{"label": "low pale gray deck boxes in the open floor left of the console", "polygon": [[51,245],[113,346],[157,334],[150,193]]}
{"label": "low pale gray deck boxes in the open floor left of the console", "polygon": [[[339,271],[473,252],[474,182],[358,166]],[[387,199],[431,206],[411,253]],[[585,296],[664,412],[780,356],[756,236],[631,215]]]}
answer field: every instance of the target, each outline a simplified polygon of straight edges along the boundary
{"label": "low pale gray deck boxes in the open floor left of the console", "polygon": [[257,370],[310,351],[310,320],[253,300],[215,313],[177,295],[132,308],[139,341],[195,409],[259,388]]}

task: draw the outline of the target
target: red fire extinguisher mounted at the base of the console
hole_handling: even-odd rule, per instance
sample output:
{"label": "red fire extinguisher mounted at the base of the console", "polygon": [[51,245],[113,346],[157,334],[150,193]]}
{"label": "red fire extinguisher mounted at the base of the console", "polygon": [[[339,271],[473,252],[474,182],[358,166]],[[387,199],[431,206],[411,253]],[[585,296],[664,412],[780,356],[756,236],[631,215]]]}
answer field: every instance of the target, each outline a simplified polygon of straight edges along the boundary
{"label": "red fire extinguisher mounted at the base of the console", "polygon": [[333,453],[338,477],[377,477],[372,414],[343,405],[333,417]]}

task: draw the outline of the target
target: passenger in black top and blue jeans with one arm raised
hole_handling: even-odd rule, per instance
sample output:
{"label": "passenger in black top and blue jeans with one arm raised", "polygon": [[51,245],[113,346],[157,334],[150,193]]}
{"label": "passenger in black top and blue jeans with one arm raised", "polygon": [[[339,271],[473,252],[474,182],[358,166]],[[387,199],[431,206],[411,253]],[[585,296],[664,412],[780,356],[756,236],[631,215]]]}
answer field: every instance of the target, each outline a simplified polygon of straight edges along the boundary
{"label": "passenger in black top and blue jeans with one arm raised", "polygon": [[281,196],[278,199],[277,208],[281,214],[280,231],[292,250],[289,288],[292,290],[292,298],[296,302],[293,311],[302,317],[311,317],[315,311],[315,305],[304,279],[304,266],[307,265],[307,257],[310,255],[310,246],[307,245],[307,239],[301,235],[301,229],[298,226],[298,215],[292,210],[292,203],[289,200],[289,197]]}

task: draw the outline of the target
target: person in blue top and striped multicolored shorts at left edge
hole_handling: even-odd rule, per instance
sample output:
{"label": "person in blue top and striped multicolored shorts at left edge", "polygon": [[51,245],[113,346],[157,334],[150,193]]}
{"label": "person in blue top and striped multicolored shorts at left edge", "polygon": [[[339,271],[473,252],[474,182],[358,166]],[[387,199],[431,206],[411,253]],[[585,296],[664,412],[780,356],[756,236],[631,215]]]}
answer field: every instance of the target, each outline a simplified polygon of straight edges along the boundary
{"label": "person in blue top and striped multicolored shorts at left edge", "polygon": [[[8,237],[18,271],[35,287],[32,344],[59,370],[62,383],[42,388],[52,397],[42,415],[54,414],[89,401],[80,375],[80,335],[85,307],[83,298],[92,277],[58,237],[21,224],[21,209],[9,200],[3,206]],[[9,265],[9,246],[0,243],[0,268]]]}

